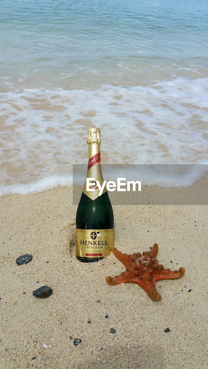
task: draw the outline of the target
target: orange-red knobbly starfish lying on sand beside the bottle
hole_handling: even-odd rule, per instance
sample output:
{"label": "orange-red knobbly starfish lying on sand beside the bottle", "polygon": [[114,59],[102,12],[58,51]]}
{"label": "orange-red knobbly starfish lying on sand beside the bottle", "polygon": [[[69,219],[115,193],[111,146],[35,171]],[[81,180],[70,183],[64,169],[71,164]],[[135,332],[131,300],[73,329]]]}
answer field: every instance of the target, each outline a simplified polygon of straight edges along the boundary
{"label": "orange-red knobbly starfish lying on sand beside the bottle", "polygon": [[126,267],[126,271],[122,272],[119,276],[106,277],[106,282],[114,286],[120,283],[137,283],[145,290],[150,299],[153,301],[161,300],[160,293],[157,292],[155,282],[160,279],[177,279],[184,275],[185,269],[171,271],[169,268],[164,269],[163,265],[158,264],[158,260],[155,259],[158,253],[158,245],[154,244],[151,251],[134,253],[133,255],[123,254],[115,247],[113,248],[113,254],[120,260]]}

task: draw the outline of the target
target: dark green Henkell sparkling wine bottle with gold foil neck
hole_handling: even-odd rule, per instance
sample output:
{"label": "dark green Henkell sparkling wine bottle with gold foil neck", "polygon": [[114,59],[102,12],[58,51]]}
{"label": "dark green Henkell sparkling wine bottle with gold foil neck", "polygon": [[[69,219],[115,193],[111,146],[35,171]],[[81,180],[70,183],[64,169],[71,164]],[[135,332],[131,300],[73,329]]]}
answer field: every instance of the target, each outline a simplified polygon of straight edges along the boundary
{"label": "dark green Henkell sparkling wine bottle with gold foil neck", "polygon": [[76,215],[76,257],[81,262],[95,262],[108,256],[114,244],[114,217],[111,202],[104,187],[101,196],[97,181],[102,186],[103,174],[100,163],[100,130],[88,131],[88,168]]}

